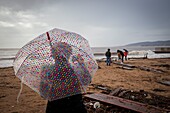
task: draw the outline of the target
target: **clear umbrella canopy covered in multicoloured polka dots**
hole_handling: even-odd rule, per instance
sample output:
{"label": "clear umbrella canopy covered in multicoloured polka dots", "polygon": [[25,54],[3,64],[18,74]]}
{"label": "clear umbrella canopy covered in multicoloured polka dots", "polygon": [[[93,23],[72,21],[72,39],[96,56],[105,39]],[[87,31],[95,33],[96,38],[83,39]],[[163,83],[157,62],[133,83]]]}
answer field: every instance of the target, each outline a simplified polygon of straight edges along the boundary
{"label": "clear umbrella canopy covered in multicoloured polka dots", "polygon": [[15,75],[50,101],[86,93],[97,68],[85,38],[56,28],[23,46],[14,60]]}

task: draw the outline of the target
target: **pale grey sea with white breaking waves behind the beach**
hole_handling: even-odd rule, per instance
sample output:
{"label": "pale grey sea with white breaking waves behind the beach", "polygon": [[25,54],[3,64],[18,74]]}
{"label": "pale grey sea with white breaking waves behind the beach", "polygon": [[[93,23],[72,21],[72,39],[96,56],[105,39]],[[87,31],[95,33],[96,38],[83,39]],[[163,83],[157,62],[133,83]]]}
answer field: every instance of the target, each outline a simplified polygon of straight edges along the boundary
{"label": "pale grey sea with white breaking waves behind the beach", "polygon": [[[170,53],[155,53],[154,50],[157,46],[117,46],[117,47],[92,47],[92,52],[96,59],[105,58],[104,53],[109,48],[112,57],[117,58],[116,51],[126,49],[129,51],[128,58],[140,58],[147,54],[148,58],[170,58]],[[159,46],[162,47],[162,46]],[[167,46],[166,46],[167,47]],[[170,48],[170,47],[168,47]],[[19,48],[0,48],[0,68],[13,66],[15,55]]]}

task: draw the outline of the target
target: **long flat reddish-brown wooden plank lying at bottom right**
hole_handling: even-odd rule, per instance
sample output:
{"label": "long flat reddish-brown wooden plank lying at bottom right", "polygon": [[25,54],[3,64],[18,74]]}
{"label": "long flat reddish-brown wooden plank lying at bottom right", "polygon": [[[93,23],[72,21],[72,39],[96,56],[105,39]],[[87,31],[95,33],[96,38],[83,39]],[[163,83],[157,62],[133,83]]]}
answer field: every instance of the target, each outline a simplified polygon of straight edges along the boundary
{"label": "long flat reddish-brown wooden plank lying at bottom right", "polygon": [[100,94],[100,93],[95,93],[95,94],[87,94],[84,95],[86,98],[94,99],[100,102],[104,102],[107,104],[111,105],[116,105],[122,108],[130,109],[133,111],[137,111],[140,113],[164,113],[168,112],[168,110],[165,109],[160,109],[151,105],[146,105],[143,103],[135,102],[132,100],[128,99],[123,99],[115,96],[110,96],[106,94]]}

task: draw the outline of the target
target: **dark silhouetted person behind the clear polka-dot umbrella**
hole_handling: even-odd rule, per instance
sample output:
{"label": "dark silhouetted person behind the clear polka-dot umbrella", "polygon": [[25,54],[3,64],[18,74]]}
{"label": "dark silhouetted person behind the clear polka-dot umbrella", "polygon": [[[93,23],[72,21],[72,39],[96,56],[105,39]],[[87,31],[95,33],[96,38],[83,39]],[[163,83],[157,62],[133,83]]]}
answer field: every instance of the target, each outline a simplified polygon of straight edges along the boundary
{"label": "dark silhouetted person behind the clear polka-dot umbrella", "polygon": [[[75,92],[73,89],[77,88],[77,92],[81,92],[81,86],[78,80],[78,77],[76,76],[74,70],[72,69],[71,65],[69,65],[69,62],[67,59],[70,59],[72,47],[68,45],[67,43],[59,42],[56,44],[56,46],[53,49],[53,55],[54,59],[56,60],[56,66],[55,68],[58,69],[56,82],[57,84],[60,84],[60,90],[58,95],[61,97],[63,95],[67,95],[64,98],[60,98],[53,101],[48,101],[46,113],[87,113],[87,110],[85,108],[85,105],[83,103],[82,94],[75,94],[70,95],[70,93]],[[68,53],[65,53],[64,51],[68,51]],[[57,53],[57,54],[56,54]],[[71,62],[76,62],[78,65],[85,65],[83,62],[83,58],[81,56],[74,56]],[[83,67],[82,67],[83,68]],[[55,72],[56,70],[54,70]],[[82,74],[82,76],[88,76],[89,73],[87,70],[81,70],[79,73]],[[64,75],[66,77],[64,77]],[[61,83],[61,81],[63,82]],[[58,82],[60,81],[60,82]],[[91,80],[90,80],[91,81]],[[68,85],[72,84],[72,85]],[[42,91],[43,92],[43,91]],[[57,93],[57,92],[56,92]]]}

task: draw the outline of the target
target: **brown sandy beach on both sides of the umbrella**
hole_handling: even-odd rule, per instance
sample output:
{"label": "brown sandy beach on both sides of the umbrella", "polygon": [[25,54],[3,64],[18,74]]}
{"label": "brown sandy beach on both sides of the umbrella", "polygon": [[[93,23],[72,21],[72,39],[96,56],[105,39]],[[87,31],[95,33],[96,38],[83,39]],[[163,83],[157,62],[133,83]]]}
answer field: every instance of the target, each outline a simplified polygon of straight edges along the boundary
{"label": "brown sandy beach on both sides of the umbrella", "polygon": [[[92,83],[110,88],[123,88],[133,91],[144,90],[170,98],[170,86],[161,84],[170,81],[170,59],[132,59],[124,64],[136,68],[126,69],[112,63],[106,66],[100,61],[100,69],[93,77]],[[47,101],[26,85],[17,103],[20,80],[15,77],[12,67],[0,69],[0,113],[44,113]],[[87,92],[100,92],[89,86]]]}

